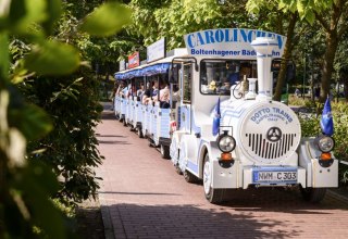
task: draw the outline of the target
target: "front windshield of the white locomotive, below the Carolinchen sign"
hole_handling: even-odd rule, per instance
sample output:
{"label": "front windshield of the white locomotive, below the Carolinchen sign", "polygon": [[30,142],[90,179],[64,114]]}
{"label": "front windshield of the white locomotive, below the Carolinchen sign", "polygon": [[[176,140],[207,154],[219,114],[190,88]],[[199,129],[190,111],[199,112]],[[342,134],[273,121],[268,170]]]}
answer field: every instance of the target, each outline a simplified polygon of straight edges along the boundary
{"label": "front windshield of the white locomotive, below the Carolinchen sign", "polygon": [[200,92],[229,95],[231,87],[247,78],[257,78],[257,61],[202,60],[200,62]]}

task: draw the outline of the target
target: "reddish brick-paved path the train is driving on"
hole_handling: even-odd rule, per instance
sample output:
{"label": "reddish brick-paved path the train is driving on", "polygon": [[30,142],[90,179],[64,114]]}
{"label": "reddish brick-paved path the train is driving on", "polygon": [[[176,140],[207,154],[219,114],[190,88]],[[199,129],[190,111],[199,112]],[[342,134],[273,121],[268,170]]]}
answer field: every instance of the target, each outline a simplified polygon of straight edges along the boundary
{"label": "reddish brick-paved path the train is driving on", "polygon": [[347,238],[348,204],[302,201],[297,190],[238,190],[231,202],[207,202],[147,140],[105,112],[98,126],[98,168],[107,238]]}

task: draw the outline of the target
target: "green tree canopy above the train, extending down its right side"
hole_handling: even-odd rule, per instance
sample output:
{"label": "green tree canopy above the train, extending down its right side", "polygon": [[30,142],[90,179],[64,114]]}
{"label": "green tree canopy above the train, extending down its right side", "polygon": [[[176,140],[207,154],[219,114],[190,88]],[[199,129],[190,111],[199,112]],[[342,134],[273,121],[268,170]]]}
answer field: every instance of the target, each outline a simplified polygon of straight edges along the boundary
{"label": "green tree canopy above the train, extending down its right side", "polygon": [[[307,83],[314,81],[314,74],[319,75],[323,99],[326,98],[330,84],[333,83],[333,60],[337,47],[341,43],[341,34],[348,25],[346,2],[346,0],[227,0],[223,5],[219,5],[214,0],[132,0],[129,7],[133,10],[134,23],[127,28],[127,33],[144,38],[144,46],[166,37],[169,49],[184,47],[185,34],[208,28],[247,27],[286,35],[288,43],[284,56],[295,59],[296,64],[300,66],[297,71],[299,80],[303,78],[303,74]],[[324,41],[323,37],[326,38]],[[144,49],[138,45],[139,42],[137,49]],[[307,60],[303,62],[303,59]],[[310,71],[302,71],[304,64]],[[275,99],[279,98],[285,84],[286,64],[282,65],[284,67],[278,76]],[[318,70],[321,70],[320,73],[314,73]]]}

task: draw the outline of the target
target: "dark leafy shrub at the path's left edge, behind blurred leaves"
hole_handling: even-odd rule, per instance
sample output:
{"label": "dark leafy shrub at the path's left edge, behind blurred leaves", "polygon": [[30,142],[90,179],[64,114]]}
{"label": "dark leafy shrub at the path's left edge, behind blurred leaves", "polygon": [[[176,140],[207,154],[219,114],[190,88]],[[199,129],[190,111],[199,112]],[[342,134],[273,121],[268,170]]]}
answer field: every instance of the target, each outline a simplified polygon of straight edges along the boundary
{"label": "dark leafy shrub at the path's left edge, behind blurred leaves", "polygon": [[[76,79],[77,76],[84,77]],[[98,102],[99,81],[82,68],[59,80],[39,77],[24,89],[27,100],[49,113],[54,126],[45,138],[28,142],[28,151],[37,152],[29,159],[46,162],[63,178],[55,196],[62,202],[95,197],[99,186],[92,167],[100,165],[102,159],[95,137],[102,111]]]}

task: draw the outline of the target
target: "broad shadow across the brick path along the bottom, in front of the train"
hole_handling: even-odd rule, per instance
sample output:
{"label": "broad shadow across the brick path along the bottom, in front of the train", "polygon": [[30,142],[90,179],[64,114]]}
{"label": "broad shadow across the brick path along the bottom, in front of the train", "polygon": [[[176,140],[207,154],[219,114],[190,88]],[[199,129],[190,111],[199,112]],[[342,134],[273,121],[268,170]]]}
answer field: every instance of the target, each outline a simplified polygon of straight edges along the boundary
{"label": "broad shadow across the brick path along the bottom, in front of the train", "polygon": [[278,219],[196,205],[119,204],[109,210],[120,212],[122,221],[114,228],[115,238],[289,238],[301,234]]}

